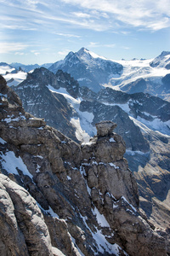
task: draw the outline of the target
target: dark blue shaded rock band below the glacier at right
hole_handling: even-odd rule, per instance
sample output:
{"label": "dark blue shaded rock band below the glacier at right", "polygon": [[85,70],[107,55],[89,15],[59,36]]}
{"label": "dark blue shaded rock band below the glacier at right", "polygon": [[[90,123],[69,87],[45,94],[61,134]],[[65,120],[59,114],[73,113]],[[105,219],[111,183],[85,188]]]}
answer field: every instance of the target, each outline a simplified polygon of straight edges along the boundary
{"label": "dark blue shaded rock band below the glacier at right", "polygon": [[[168,83],[168,76],[165,78],[167,78],[164,79],[165,83],[166,81]],[[158,118],[163,122],[170,119],[170,103],[147,93],[127,94],[106,88],[105,90],[100,90],[95,100],[107,104],[119,104],[122,108],[125,108],[122,104],[127,104],[127,112],[131,113],[134,118],[140,117],[150,121]]]}

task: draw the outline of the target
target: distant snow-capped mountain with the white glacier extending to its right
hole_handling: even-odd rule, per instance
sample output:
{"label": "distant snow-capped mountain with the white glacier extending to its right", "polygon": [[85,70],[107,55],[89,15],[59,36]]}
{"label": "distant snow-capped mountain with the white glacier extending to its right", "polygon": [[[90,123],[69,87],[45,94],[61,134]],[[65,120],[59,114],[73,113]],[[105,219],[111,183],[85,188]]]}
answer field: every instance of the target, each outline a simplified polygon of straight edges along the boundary
{"label": "distant snow-capped mountain with the white glacier extending to its right", "polygon": [[163,79],[169,73],[169,58],[169,52],[164,51],[156,59],[114,61],[82,48],[76,53],[70,52],[63,61],[55,62],[49,70],[71,73],[81,86],[88,86],[95,92],[110,86],[127,93],[147,92],[168,100],[170,86],[165,85]]}

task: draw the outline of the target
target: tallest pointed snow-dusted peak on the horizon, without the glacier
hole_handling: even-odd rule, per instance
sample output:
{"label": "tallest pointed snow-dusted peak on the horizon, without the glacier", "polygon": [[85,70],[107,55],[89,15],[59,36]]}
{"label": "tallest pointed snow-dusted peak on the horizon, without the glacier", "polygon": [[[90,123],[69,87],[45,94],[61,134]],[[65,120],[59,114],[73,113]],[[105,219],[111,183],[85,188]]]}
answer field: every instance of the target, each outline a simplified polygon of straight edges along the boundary
{"label": "tallest pointed snow-dusted peak on the horizon, without the glacier", "polygon": [[49,67],[53,73],[59,69],[71,73],[81,86],[88,86],[97,92],[102,88],[102,84],[107,84],[111,78],[119,78],[123,67],[116,61],[107,60],[82,48],[76,53],[70,52],[64,61],[57,61]]}

